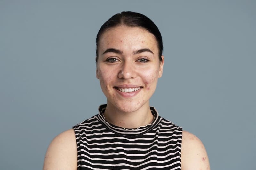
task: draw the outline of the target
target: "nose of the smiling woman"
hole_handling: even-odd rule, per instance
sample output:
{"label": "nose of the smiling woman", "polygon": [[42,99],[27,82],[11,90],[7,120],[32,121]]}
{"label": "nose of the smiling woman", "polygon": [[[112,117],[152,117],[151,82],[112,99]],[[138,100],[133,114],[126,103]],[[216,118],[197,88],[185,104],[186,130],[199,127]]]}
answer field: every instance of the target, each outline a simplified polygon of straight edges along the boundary
{"label": "nose of the smiling woman", "polygon": [[136,77],[136,68],[132,61],[125,61],[120,68],[118,78],[129,79]]}

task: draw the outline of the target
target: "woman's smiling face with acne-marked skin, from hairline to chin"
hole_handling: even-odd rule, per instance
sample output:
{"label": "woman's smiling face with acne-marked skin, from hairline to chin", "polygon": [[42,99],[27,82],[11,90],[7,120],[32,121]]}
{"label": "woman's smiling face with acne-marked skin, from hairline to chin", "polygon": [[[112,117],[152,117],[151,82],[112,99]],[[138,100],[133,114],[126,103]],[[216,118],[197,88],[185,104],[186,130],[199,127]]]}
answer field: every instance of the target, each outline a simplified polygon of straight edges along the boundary
{"label": "woman's smiling face with acne-marked skin, from hairline to chin", "polygon": [[96,77],[108,107],[122,112],[148,107],[164,64],[154,35],[138,27],[114,27],[102,34],[98,50]]}

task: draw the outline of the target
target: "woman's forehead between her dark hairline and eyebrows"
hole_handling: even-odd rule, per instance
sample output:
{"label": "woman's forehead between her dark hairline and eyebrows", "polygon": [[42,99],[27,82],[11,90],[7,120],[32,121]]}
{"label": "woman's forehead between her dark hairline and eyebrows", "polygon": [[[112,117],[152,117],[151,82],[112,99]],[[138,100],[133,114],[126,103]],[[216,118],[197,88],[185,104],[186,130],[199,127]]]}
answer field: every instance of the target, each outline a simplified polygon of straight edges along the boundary
{"label": "woman's forehead between her dark hairline and eyebrows", "polygon": [[149,48],[158,51],[155,36],[139,27],[117,26],[105,31],[100,37],[99,52],[107,48],[131,50]]}

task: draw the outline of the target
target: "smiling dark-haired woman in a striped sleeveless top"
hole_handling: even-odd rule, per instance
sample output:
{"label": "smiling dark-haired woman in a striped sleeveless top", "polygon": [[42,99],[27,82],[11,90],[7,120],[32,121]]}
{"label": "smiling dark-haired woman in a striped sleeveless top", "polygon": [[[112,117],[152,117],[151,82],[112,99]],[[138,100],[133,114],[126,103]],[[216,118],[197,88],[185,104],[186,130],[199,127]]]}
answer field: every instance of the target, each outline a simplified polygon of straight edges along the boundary
{"label": "smiling dark-haired woman in a striped sleeveless top", "polygon": [[201,141],[149,106],[164,66],[157,26],[142,14],[118,13],[101,26],[96,45],[107,104],[53,139],[44,170],[210,169]]}

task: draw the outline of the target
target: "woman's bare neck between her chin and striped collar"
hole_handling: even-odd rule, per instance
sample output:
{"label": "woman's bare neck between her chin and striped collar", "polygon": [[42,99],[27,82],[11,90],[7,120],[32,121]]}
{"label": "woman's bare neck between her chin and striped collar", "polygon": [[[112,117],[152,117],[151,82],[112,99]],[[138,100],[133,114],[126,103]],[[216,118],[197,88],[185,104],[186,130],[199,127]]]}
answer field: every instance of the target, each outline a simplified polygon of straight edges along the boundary
{"label": "woman's bare neck between her chin and striped collar", "polygon": [[115,126],[129,129],[146,126],[154,119],[149,104],[145,104],[133,112],[123,112],[108,103],[104,117],[109,123]]}

